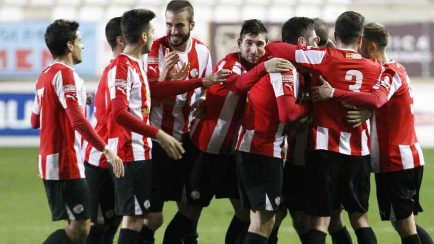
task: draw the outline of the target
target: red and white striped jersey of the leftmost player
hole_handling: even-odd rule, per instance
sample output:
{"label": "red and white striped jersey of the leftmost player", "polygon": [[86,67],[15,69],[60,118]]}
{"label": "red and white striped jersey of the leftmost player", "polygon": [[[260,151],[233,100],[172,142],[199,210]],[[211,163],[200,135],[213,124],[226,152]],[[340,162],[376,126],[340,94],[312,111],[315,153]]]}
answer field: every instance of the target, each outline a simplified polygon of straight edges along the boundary
{"label": "red and white striped jersey of the leftmost player", "polygon": [[84,178],[81,135],[65,111],[79,105],[85,112],[83,80],[72,67],[53,63],[36,81],[33,112],[40,118],[39,176],[47,180]]}

